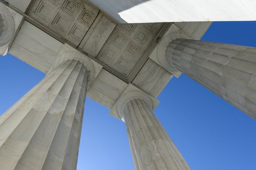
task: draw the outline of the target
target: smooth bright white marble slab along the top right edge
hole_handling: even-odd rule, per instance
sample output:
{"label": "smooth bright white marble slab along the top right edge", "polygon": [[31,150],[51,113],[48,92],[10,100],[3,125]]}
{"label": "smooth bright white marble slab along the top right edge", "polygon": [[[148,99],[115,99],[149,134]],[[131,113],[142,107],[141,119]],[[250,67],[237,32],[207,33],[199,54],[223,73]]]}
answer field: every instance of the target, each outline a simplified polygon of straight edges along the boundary
{"label": "smooth bright white marble slab along the top right edge", "polygon": [[256,20],[255,0],[89,0],[119,23]]}

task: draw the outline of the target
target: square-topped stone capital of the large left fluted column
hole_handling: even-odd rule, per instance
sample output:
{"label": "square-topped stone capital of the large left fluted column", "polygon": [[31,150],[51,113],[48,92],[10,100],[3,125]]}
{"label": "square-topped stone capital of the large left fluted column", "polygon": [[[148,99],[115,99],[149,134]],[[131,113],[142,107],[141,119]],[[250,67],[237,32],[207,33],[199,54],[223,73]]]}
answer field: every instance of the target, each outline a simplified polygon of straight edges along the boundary
{"label": "square-topped stone capital of the large left fluted column", "polygon": [[68,44],[64,44],[55,62],[48,70],[47,74],[51,73],[54,69],[56,69],[60,64],[62,64],[66,60],[78,60],[86,66],[86,69],[89,73],[87,88],[90,87],[94,79],[97,77],[97,75],[103,68],[100,64],[96,63],[85,54],[81,53],[80,51],[77,51],[75,48],[71,47]]}

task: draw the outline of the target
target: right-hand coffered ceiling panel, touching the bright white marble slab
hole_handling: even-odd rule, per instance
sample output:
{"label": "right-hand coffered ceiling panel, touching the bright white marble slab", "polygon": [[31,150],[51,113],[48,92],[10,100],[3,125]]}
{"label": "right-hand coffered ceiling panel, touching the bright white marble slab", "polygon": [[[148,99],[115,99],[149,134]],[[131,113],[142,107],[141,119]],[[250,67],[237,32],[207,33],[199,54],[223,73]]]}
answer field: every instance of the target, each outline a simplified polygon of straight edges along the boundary
{"label": "right-hand coffered ceiling panel, touching the bright white marble slab", "polygon": [[128,77],[162,26],[163,23],[118,24],[96,58]]}

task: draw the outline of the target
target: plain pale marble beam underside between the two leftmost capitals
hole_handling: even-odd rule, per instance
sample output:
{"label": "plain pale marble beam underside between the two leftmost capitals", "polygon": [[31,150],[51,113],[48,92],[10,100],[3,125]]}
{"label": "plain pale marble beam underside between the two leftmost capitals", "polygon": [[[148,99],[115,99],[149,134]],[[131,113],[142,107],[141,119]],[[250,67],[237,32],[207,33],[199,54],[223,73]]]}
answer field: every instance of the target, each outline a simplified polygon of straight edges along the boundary
{"label": "plain pale marble beam underside between the two leftmost capitals", "polygon": [[46,73],[62,47],[63,43],[24,21],[9,52]]}

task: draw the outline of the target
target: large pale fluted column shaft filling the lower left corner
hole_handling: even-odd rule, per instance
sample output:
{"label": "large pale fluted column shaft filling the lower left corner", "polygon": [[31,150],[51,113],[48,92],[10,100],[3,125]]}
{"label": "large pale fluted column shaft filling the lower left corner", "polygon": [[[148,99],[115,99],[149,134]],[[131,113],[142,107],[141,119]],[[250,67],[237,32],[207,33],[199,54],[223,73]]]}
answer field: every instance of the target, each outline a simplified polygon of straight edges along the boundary
{"label": "large pale fluted column shaft filling the lower left corner", "polygon": [[0,116],[0,170],[76,170],[87,79],[66,60]]}

